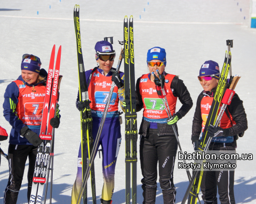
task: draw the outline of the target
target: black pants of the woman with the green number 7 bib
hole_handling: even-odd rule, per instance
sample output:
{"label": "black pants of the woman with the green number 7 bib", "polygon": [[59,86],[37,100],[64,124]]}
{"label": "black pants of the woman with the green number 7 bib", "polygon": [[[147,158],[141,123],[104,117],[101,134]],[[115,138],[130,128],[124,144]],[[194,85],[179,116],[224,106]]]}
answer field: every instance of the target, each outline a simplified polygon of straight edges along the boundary
{"label": "black pants of the woman with the green number 7 bib", "polygon": [[155,203],[157,189],[157,162],[159,183],[164,204],[174,203],[176,189],[173,183],[173,167],[178,144],[174,136],[159,137],[157,129],[149,129],[140,139],[140,165],[143,179],[143,203]]}

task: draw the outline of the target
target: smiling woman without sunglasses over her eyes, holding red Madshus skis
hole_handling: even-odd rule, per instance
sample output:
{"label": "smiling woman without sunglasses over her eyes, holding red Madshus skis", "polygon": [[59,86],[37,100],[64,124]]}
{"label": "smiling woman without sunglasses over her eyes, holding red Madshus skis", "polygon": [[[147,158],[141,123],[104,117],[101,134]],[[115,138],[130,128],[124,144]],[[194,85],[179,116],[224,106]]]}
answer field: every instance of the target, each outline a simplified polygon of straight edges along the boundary
{"label": "smiling woman without sunglasses over her eyes, holding red Madshus skis", "polygon": [[[4,192],[6,204],[17,202],[27,158],[28,201],[30,198],[37,146],[42,143],[38,135],[45,97],[45,74],[47,72],[41,69],[39,57],[24,54],[21,75],[7,86],[4,93],[4,117],[12,126],[8,149],[9,180]],[[59,121],[57,125],[51,125],[58,128]]]}

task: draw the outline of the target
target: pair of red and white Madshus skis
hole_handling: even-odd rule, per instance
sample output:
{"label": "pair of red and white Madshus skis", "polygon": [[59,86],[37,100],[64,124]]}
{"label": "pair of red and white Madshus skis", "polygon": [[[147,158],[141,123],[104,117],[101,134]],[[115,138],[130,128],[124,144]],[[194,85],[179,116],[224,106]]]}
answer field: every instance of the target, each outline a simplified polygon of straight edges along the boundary
{"label": "pair of red and white Madshus skis", "polygon": [[43,142],[41,143],[40,146],[38,146],[38,149],[37,149],[35,171],[34,171],[33,184],[32,184],[29,203],[42,203],[42,199],[43,199],[44,184],[46,182],[46,176],[47,176],[49,164],[50,164],[49,159],[50,159],[50,153],[51,153],[51,140],[52,140],[52,131],[53,131],[53,128],[50,125],[50,119],[55,115],[55,107],[56,107],[57,98],[58,98],[60,57],[61,57],[61,46],[59,47],[59,50],[58,50],[56,66],[53,72],[54,58],[55,58],[55,45],[54,45],[52,48],[49,72],[47,75],[43,116],[42,116],[41,130],[39,134],[39,137],[43,140]]}

